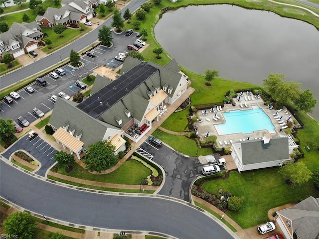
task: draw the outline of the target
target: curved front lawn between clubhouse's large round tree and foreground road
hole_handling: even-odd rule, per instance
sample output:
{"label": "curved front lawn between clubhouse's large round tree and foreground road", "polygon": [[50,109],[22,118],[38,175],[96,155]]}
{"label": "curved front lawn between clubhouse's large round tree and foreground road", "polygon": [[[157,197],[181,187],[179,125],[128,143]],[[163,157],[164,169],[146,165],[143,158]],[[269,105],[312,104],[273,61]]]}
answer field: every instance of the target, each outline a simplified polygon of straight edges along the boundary
{"label": "curved front lawn between clubhouse's large round tree and foreground road", "polygon": [[58,173],[75,178],[82,178],[104,183],[139,185],[144,178],[151,174],[151,170],[143,166],[143,164],[139,163],[138,161],[130,160],[123,163],[121,167],[112,173],[103,175],[91,174],[77,163],[73,164],[73,170],[70,173],[66,173],[64,168],[59,169]]}

